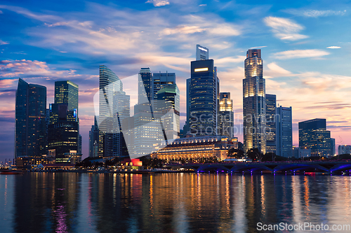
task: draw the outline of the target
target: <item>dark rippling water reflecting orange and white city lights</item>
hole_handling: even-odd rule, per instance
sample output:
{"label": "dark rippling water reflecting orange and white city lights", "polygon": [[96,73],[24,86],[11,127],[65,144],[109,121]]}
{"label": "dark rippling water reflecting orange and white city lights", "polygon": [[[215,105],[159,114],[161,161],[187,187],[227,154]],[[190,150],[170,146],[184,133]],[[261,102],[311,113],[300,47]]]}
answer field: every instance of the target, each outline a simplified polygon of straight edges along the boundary
{"label": "dark rippling water reflecting orange and white city lights", "polygon": [[0,175],[0,232],[269,232],[258,223],[351,225],[351,177]]}

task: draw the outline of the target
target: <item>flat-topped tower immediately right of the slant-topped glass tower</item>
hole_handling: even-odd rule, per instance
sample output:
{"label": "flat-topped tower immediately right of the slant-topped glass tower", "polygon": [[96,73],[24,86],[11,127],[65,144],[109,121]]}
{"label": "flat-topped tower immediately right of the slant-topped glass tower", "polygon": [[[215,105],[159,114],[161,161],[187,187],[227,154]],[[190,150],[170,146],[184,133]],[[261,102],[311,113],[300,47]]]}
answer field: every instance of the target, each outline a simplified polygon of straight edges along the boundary
{"label": "flat-topped tower immediately right of the slant-topped glass tower", "polygon": [[128,157],[128,148],[122,132],[122,124],[125,118],[130,117],[131,97],[126,92],[114,92],[113,94],[113,153],[114,157]]}

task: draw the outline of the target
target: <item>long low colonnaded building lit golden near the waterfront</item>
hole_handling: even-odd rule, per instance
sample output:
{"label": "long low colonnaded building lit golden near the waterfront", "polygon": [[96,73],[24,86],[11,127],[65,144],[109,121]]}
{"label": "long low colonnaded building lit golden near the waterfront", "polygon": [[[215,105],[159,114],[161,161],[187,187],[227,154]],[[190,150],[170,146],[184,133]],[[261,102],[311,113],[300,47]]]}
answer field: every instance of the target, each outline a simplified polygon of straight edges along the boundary
{"label": "long low colonnaded building lit golden near the waterfront", "polygon": [[201,157],[227,158],[232,142],[226,136],[196,136],[176,139],[166,147],[152,153],[152,158],[160,160],[199,159]]}

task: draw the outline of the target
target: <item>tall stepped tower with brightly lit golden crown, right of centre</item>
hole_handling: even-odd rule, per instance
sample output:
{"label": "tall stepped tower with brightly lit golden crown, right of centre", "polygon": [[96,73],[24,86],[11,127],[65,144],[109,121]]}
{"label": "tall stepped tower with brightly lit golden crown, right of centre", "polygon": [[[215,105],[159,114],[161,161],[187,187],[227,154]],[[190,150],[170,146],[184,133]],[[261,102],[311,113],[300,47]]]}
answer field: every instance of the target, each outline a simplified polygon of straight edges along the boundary
{"label": "tall stepped tower with brightly lit golden crown, right of centre", "polygon": [[261,50],[246,52],[243,80],[244,150],[258,148],[266,152],[265,137],[265,79]]}

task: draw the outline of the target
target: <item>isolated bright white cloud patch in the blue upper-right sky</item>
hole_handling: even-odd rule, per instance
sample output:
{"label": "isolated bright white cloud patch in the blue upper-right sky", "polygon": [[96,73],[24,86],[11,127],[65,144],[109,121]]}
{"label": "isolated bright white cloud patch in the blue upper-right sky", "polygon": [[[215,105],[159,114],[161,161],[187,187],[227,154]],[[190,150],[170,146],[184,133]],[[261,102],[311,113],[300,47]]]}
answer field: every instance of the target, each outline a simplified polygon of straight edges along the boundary
{"label": "isolated bright white cloud patch in the blue upper-right sky", "polygon": [[308,38],[308,36],[298,34],[304,29],[304,27],[292,20],[283,17],[269,16],[265,17],[263,21],[268,27],[272,28],[274,36],[283,41],[297,41],[303,38]]}

